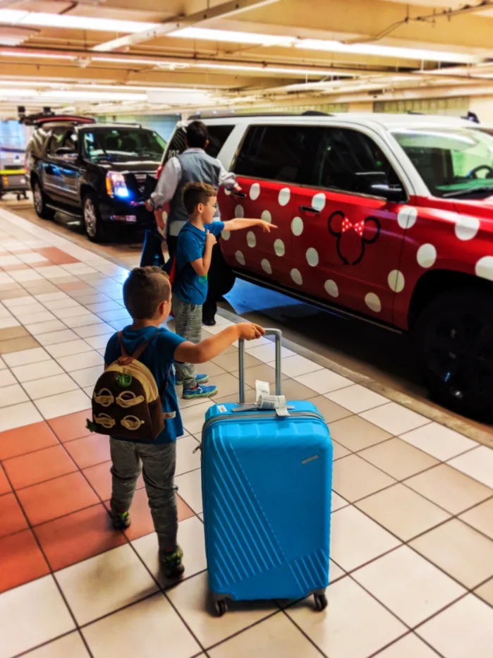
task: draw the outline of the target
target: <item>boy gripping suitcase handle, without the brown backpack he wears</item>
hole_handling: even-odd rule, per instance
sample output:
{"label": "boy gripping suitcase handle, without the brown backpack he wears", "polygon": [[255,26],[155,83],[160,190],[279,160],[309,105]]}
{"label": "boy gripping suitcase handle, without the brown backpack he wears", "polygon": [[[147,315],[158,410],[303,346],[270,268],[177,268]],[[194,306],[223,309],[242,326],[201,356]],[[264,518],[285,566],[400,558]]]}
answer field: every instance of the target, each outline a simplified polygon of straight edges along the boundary
{"label": "boy gripping suitcase handle, without the brown backpack he wears", "polygon": [[[173,365],[183,361],[204,363],[240,338],[247,341],[259,338],[264,334],[264,329],[256,324],[241,322],[195,345],[161,328],[171,310],[171,285],[168,275],[160,267],[133,269],[123,284],[123,301],[133,318],[133,324],[125,327],[121,334],[123,348],[127,354],[133,354],[150,341],[138,359],[149,368],[156,380],[166,420],[164,430],[153,441],[110,438],[113,483],[111,519],[114,527],[120,530],[130,525],[128,510],[142,468],[164,575],[166,578],[178,578],[183,573],[183,552],[176,543],[178,518],[174,473],[176,437],[183,434],[183,425],[176,398]],[[121,353],[118,334],[114,334],[106,346],[106,366],[118,359]]]}

